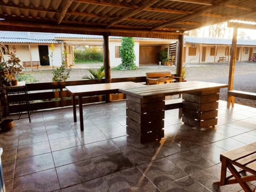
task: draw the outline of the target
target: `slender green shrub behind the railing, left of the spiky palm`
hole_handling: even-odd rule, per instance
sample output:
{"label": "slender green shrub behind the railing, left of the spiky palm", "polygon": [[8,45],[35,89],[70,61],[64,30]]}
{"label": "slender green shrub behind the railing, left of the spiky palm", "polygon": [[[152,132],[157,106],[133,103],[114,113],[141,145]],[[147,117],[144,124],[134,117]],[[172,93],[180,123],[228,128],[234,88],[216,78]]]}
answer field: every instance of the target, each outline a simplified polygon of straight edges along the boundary
{"label": "slender green shrub behind the railing, left of the spiky palm", "polygon": [[66,81],[69,78],[69,75],[71,72],[71,67],[66,69],[66,58],[67,58],[67,52],[64,52],[62,54],[61,66],[59,68],[52,70],[52,74],[53,74],[52,81],[53,82],[62,82],[62,81]]}

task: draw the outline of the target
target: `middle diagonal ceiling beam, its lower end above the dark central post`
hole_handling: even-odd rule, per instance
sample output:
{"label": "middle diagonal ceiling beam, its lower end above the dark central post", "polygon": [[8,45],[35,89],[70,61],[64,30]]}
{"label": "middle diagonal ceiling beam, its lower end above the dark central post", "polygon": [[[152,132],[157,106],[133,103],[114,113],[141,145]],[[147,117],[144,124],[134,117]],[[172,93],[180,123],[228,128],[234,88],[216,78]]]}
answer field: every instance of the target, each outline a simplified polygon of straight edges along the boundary
{"label": "middle diagonal ceiling beam, its lower end above the dark central post", "polygon": [[124,21],[126,18],[132,17],[133,15],[143,11],[144,9],[146,9],[147,7],[153,5],[154,3],[158,2],[158,1],[159,0],[149,0],[147,3],[139,6],[137,9],[134,9],[133,11],[129,11],[126,14],[122,15],[121,18],[109,22],[107,28],[115,25],[118,22]]}

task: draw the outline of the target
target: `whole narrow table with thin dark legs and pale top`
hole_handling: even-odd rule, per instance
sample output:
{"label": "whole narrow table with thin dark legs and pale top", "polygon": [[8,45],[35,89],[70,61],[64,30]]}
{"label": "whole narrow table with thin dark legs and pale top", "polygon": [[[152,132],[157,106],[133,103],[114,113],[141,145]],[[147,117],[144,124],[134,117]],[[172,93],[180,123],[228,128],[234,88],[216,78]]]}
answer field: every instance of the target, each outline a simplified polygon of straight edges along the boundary
{"label": "whole narrow table with thin dark legs and pale top", "polygon": [[78,97],[79,103],[79,119],[80,119],[80,129],[84,130],[84,120],[83,120],[83,97],[90,97],[94,95],[105,95],[111,93],[119,93],[119,89],[128,89],[134,87],[146,86],[141,83],[134,82],[118,82],[118,83],[100,83],[100,84],[89,84],[89,85],[75,85],[66,86],[66,89],[72,94],[73,97],[73,116],[74,122],[76,119],[76,97]]}

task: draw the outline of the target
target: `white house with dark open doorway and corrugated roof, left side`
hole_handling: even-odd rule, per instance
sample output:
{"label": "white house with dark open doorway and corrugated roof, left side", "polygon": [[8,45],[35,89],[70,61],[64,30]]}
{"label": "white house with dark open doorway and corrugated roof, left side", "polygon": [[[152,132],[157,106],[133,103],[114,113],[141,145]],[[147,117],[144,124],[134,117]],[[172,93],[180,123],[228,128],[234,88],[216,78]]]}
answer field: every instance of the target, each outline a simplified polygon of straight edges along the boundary
{"label": "white house with dark open doorway and corrugated roof, left side", "polygon": [[[33,33],[0,31],[0,42],[9,51],[15,52],[21,61],[39,61],[40,66],[60,66],[63,51],[67,52],[66,66],[73,64],[74,46],[102,46],[103,38],[97,35]],[[119,48],[122,37],[109,37],[110,63],[116,67],[121,63]],[[171,39],[134,38],[135,64],[158,64],[158,52],[168,49]],[[54,45],[54,50],[51,45]],[[51,57],[52,55],[52,57]]]}

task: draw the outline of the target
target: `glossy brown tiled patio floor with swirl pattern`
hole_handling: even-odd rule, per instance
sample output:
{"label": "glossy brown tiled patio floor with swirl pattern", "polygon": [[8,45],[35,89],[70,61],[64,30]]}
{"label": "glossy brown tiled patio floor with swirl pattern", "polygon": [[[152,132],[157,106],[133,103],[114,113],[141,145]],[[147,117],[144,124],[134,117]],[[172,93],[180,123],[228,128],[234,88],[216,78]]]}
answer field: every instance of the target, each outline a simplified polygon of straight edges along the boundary
{"label": "glossy brown tiled patio floor with swirl pattern", "polygon": [[228,110],[220,101],[218,126],[204,131],[169,110],[165,138],[142,145],[126,135],[125,105],[84,106],[83,132],[72,108],[15,121],[0,133],[6,191],[242,191],[213,182],[220,179],[221,153],[256,140],[256,108]]}

